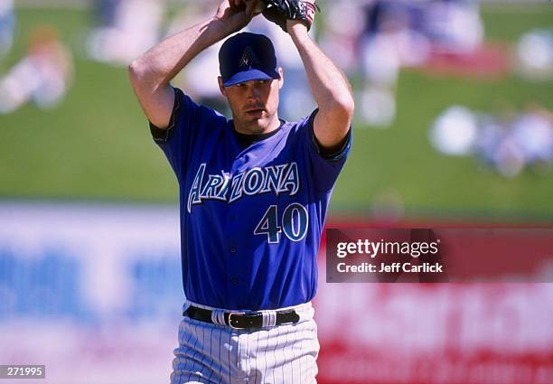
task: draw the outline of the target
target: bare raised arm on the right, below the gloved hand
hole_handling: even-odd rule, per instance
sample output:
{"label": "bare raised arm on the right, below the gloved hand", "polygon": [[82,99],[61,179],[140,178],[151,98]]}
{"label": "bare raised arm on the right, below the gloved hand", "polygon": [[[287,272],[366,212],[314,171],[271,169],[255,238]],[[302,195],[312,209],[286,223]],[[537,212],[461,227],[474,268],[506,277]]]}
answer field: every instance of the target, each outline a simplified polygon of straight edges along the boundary
{"label": "bare raised arm on the right, below the gloved hand", "polygon": [[314,118],[314,135],[319,145],[327,151],[339,150],[353,116],[350,83],[311,39],[304,23],[288,20],[286,28],[302,57],[307,79],[319,107]]}

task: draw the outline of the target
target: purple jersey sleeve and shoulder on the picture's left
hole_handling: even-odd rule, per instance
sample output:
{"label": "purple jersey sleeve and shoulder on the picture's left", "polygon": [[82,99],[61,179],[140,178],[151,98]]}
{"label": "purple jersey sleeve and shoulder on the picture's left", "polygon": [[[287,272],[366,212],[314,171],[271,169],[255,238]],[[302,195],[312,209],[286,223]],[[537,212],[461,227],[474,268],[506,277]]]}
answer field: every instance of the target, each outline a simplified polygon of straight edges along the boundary
{"label": "purple jersey sleeve and shoulder on the picture's left", "polygon": [[216,126],[224,119],[211,108],[196,104],[184,95],[181,89],[174,89],[174,104],[169,126],[160,129],[150,122],[150,132],[155,144],[164,151],[177,179],[186,173],[187,156],[190,155],[198,136],[205,135],[210,126]]}

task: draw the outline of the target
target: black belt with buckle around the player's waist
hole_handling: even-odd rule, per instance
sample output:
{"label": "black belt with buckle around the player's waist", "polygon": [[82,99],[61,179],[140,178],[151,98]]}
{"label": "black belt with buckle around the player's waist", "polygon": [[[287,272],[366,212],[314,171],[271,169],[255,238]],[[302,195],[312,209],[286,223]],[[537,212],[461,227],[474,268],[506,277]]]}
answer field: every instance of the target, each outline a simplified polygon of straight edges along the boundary
{"label": "black belt with buckle around the player's waist", "polygon": [[[212,311],[209,309],[198,308],[197,306],[191,305],[183,312],[183,315],[204,323],[213,323],[211,321],[211,312]],[[225,312],[224,319],[225,324],[235,329],[263,328],[263,314],[256,312],[251,314],[243,312]],[[276,325],[297,322],[299,322],[299,314],[294,310],[277,312]]]}

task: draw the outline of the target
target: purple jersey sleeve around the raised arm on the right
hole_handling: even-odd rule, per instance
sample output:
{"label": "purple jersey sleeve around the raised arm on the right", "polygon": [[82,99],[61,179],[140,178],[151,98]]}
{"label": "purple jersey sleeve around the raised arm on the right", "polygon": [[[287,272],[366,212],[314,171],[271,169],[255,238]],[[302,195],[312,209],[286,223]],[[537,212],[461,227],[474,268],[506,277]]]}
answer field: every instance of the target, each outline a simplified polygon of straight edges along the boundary
{"label": "purple jersey sleeve around the raised arm on the right", "polygon": [[304,133],[303,142],[312,167],[315,188],[319,192],[328,192],[333,189],[334,183],[336,183],[336,179],[342,171],[343,164],[345,164],[351,152],[352,134],[350,127],[345,142],[339,151],[333,154],[324,152],[314,136],[314,117],[317,112],[318,109],[315,109],[311,116],[302,122],[304,126],[301,127],[301,130]]}

